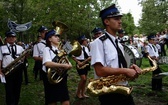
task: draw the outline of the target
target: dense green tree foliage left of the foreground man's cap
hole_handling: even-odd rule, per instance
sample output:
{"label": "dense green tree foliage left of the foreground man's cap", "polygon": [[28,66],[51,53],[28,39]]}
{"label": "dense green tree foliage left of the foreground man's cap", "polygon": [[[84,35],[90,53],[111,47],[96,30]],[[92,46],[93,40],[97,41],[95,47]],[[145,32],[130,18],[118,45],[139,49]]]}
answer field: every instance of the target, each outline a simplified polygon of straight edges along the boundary
{"label": "dense green tree foliage left of the foreground man's cap", "polygon": [[[61,21],[65,23],[69,30],[64,33],[64,39],[74,40],[79,35],[85,34],[87,38],[91,38],[91,31],[94,27],[101,27],[102,22],[99,18],[99,12],[112,3],[117,4],[117,0],[2,0],[0,2],[0,26],[1,33],[4,36],[8,30],[7,21],[11,19],[18,24],[32,21],[32,27],[25,32],[18,33],[18,40],[31,42],[36,40],[37,29],[44,25],[49,29],[53,29],[53,21]],[[129,33],[132,33],[132,21],[129,21]],[[126,24],[128,22],[125,22]],[[131,26],[130,26],[131,25]]]}

